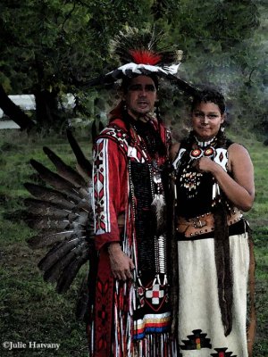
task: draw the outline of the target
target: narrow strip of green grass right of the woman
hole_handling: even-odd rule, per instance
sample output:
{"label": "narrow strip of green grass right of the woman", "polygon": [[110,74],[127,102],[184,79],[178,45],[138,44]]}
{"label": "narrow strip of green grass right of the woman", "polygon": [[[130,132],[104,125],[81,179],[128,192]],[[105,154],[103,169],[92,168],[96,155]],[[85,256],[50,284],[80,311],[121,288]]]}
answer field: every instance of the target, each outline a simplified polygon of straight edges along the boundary
{"label": "narrow strip of green grass right of the woman", "polygon": [[256,141],[252,133],[230,135],[230,138],[247,147],[255,168],[255,203],[245,216],[253,228],[255,241],[257,331],[254,357],[265,357],[268,355],[268,148]]}

